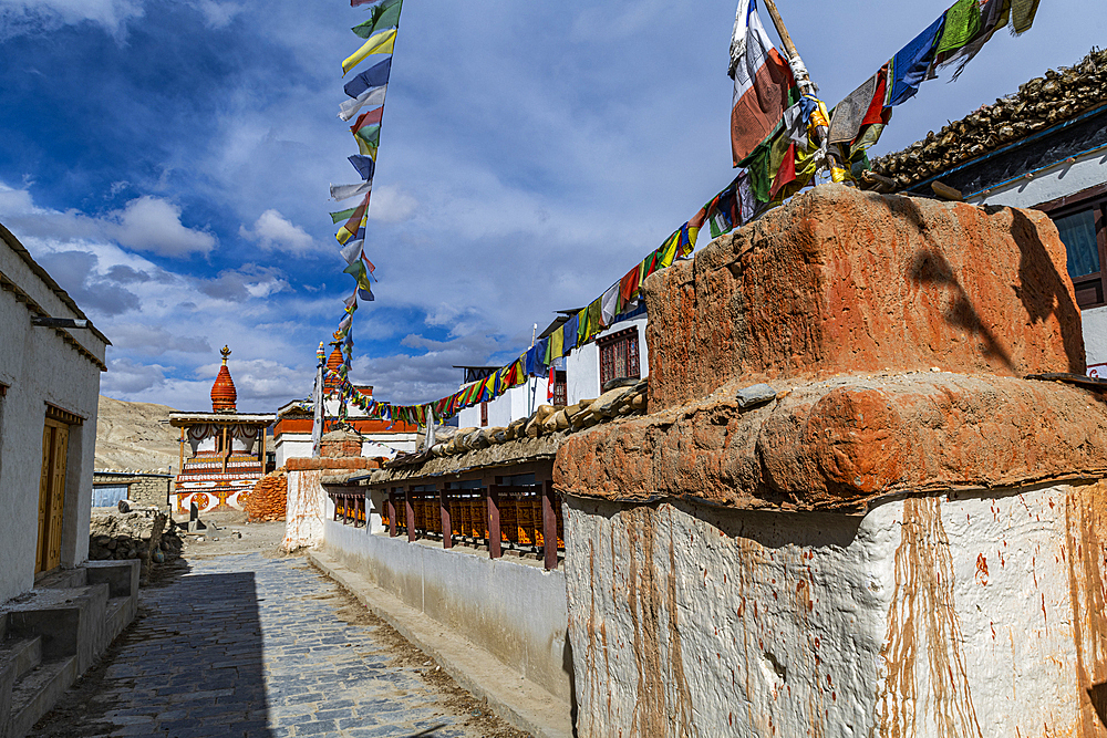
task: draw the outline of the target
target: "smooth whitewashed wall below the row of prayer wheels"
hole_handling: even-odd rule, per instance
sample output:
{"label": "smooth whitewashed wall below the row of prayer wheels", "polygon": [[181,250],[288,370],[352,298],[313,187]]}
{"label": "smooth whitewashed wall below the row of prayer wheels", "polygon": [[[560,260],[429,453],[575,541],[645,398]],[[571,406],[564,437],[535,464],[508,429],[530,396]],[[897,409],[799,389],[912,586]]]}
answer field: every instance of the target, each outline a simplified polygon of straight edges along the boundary
{"label": "smooth whitewashed wall below the row of prayer wheels", "polygon": [[[323,548],[412,607],[565,701],[571,694],[565,574],[438,541],[408,543],[324,522]],[[505,675],[504,678],[513,678]],[[518,678],[518,677],[515,677]]]}

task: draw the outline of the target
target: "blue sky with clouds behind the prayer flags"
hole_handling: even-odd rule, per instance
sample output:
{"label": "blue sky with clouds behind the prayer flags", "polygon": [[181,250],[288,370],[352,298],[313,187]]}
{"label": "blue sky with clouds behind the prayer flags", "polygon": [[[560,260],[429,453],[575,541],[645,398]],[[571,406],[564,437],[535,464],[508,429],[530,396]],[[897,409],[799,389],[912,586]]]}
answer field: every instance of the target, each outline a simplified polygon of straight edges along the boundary
{"label": "blue sky with clouds behind the prayer flags", "polygon": [[[778,6],[832,105],[945,1]],[[734,4],[408,0],[354,378],[393,402],[452,392],[453,364],[517,355],[724,187]],[[342,0],[0,0],[0,222],[112,339],[104,394],[203,409],[225,343],[240,408],[308,394],[351,287],[328,216],[351,201],[328,185],[356,181],[335,114],[363,19]],[[1105,42],[1107,14],[1043,0],[873,153]]]}

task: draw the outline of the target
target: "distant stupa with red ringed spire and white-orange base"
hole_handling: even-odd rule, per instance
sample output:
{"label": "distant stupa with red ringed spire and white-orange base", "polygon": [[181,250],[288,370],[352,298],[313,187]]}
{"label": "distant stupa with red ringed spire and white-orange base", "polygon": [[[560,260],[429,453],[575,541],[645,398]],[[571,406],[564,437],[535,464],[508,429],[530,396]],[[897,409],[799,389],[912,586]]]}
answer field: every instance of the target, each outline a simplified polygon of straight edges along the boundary
{"label": "distant stupa with red ringed spire and white-orange base", "polygon": [[180,428],[174,489],[178,516],[188,514],[193,505],[201,513],[241,510],[239,498],[265,475],[268,428],[276,416],[238,412],[238,391],[227,366],[230,349],[224,346],[220,353],[211,412],[169,414],[169,425]]}

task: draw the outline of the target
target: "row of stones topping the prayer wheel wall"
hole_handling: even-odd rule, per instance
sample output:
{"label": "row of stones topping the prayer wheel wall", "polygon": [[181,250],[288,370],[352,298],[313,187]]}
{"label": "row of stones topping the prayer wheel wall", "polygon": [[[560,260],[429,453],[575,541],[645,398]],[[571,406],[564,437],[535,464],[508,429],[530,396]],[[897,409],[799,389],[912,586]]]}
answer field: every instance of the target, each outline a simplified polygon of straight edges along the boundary
{"label": "row of stones topping the prayer wheel wall", "polygon": [[615,387],[594,399],[582,399],[568,407],[541,405],[527,418],[507,427],[442,428],[435,432],[437,443],[430,454],[401,456],[386,466],[402,466],[420,457],[445,457],[465,454],[524,438],[538,438],[555,433],[573,433],[620,416],[643,415],[646,408],[646,380]]}

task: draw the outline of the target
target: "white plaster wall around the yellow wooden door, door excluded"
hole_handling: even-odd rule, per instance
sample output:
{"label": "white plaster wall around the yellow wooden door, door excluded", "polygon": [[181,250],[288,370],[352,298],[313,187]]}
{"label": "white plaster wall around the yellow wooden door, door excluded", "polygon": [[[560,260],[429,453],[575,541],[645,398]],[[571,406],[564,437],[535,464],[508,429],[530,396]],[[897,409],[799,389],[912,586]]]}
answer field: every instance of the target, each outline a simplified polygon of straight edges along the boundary
{"label": "white plaster wall around the yellow wooden door, door excluded", "polygon": [[[53,318],[79,318],[0,241],[0,272]],[[87,330],[70,334],[101,361],[106,345]],[[45,403],[84,418],[71,426],[62,521],[62,565],[89,554],[100,368],[52,329],[31,325],[28,306],[0,290],[0,602],[34,583],[39,478]]]}

